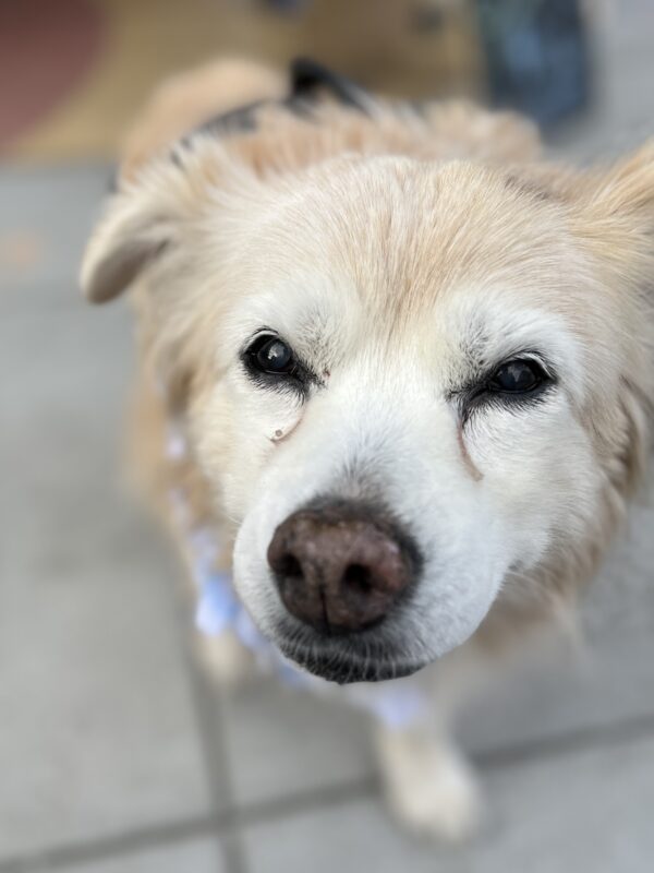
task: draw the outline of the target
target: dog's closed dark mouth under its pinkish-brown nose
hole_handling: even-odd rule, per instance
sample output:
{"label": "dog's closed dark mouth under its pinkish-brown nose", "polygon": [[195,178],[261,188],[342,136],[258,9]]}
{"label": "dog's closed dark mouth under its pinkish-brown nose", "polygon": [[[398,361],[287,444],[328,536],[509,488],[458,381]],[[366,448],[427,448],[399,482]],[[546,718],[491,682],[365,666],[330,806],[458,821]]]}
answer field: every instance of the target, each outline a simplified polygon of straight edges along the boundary
{"label": "dog's closed dark mouth under its pinkish-brown nose", "polygon": [[347,685],[353,682],[385,682],[401,679],[425,665],[393,655],[389,646],[338,637],[292,639],[280,634],[276,645],[282,655],[313,675]]}

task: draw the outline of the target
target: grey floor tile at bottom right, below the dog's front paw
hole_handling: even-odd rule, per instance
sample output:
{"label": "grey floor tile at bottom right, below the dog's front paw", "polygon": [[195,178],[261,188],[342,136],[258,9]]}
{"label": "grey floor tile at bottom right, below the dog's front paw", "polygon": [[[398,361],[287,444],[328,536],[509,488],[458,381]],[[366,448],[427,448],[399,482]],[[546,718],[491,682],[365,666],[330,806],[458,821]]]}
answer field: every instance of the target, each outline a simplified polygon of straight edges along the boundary
{"label": "grey floor tile at bottom right, below the dog's front paw", "polygon": [[649,873],[654,739],[588,749],[486,775],[479,837],[444,850],[400,834],[374,799],[253,826],[252,873]]}

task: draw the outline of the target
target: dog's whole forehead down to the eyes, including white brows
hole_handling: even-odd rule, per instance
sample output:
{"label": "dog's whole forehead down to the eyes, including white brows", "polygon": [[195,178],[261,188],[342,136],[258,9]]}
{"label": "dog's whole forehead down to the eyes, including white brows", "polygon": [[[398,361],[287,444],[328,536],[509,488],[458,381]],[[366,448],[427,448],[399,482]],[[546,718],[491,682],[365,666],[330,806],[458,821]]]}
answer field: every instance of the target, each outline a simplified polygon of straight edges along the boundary
{"label": "dog's whole forehead down to the eyes, including white brows", "polygon": [[499,170],[341,159],[272,193],[243,248],[239,336],[271,327],[327,369],[401,358],[433,371],[525,348],[572,363],[610,322],[565,206]]}

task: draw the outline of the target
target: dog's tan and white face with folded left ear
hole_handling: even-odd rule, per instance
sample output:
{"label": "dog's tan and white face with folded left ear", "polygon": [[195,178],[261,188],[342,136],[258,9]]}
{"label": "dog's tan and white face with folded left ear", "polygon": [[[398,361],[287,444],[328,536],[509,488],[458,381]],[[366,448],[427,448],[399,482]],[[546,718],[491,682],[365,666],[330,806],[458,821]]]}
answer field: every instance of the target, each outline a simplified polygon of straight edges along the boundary
{"label": "dog's tan and white face with folded left ear", "polygon": [[328,679],[407,674],[594,554],[650,392],[635,193],[401,157],[207,193],[206,160],[121,195],[85,277],[157,253],[153,344],[261,630]]}

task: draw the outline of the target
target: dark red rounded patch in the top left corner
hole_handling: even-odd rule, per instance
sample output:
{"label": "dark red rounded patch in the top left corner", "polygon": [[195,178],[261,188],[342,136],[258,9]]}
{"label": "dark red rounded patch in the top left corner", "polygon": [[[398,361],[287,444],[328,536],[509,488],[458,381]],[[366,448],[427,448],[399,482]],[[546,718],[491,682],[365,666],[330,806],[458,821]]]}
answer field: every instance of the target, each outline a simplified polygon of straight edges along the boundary
{"label": "dark red rounded patch in the top left corner", "polygon": [[102,35],[101,13],[88,0],[0,0],[0,147],[83,81]]}

